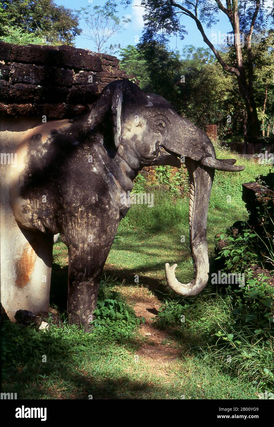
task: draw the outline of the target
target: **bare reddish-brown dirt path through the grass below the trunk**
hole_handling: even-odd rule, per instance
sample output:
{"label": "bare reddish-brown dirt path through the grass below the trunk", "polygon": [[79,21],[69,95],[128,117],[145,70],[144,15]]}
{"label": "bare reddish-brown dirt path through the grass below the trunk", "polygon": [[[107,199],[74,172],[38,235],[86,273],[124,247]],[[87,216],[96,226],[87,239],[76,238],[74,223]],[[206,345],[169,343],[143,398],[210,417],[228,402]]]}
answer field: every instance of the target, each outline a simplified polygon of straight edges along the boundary
{"label": "bare reddish-brown dirt path through the grass below the trunk", "polygon": [[119,292],[133,306],[136,316],[145,318],[145,323],[140,327],[140,333],[145,340],[136,356],[146,360],[149,366],[154,368],[155,373],[164,374],[163,368],[176,362],[182,351],[175,348],[176,341],[167,331],[159,330],[153,325],[153,319],[161,304],[145,287],[124,287],[119,288]]}

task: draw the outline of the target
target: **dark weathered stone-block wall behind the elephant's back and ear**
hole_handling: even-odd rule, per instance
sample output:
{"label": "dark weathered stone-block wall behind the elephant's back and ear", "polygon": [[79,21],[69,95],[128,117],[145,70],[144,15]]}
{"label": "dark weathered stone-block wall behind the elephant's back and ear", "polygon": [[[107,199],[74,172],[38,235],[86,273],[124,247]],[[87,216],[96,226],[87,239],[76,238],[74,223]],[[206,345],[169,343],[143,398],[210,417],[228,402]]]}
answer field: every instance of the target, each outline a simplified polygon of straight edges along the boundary
{"label": "dark weathered stone-block wall behind the elephant's back and ear", "polygon": [[115,56],[87,49],[0,42],[0,117],[83,114],[105,85],[134,79],[118,63]]}

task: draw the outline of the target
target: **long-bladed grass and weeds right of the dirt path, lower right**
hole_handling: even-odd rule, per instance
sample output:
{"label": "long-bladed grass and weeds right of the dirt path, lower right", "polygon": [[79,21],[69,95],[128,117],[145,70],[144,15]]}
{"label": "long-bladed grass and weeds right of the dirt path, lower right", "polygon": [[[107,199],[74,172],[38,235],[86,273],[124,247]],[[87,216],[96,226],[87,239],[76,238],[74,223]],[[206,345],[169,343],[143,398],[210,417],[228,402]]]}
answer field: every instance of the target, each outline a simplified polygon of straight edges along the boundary
{"label": "long-bladed grass and weeds right of the dirt path, lower right", "polygon": [[[195,354],[195,363],[201,360],[211,369],[217,364],[220,372],[250,381],[258,391],[274,391],[274,343],[269,326],[250,329],[248,323],[237,322],[232,295],[221,296],[208,289],[205,293],[195,300],[178,296],[165,300],[155,325],[173,331],[187,347],[188,358]],[[191,362],[193,365],[193,359]]]}

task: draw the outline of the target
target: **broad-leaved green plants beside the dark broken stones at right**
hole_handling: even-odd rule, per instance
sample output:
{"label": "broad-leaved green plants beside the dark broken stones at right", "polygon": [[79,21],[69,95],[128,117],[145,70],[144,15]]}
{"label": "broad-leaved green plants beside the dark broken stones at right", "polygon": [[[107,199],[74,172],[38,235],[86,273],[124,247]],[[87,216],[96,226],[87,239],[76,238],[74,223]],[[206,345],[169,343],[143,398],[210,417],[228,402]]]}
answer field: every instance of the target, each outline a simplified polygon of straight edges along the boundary
{"label": "broad-leaved green plants beside the dark broken stones at right", "polygon": [[256,248],[257,234],[243,229],[237,236],[221,234],[217,240],[225,242],[220,256],[225,258],[225,272],[244,274],[244,282],[238,288],[228,285],[226,292],[233,296],[233,314],[238,322],[248,322],[253,334],[273,340],[274,336],[274,287],[269,284],[270,275],[256,273],[251,266],[260,262]]}

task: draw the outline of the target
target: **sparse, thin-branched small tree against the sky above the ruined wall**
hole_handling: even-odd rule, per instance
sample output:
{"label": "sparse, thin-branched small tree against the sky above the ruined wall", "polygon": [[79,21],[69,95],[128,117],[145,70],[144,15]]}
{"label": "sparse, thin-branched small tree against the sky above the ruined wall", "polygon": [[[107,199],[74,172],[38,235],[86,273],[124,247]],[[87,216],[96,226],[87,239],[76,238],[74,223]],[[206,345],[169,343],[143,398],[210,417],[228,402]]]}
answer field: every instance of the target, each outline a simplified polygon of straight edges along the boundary
{"label": "sparse, thin-branched small tree against the sky above the ruined wall", "polygon": [[122,16],[120,19],[116,15],[116,3],[107,1],[103,7],[91,6],[81,9],[82,16],[85,21],[85,29],[83,34],[88,40],[93,41],[96,52],[113,53],[120,45],[112,45],[107,48],[106,44],[110,37],[119,34],[125,24],[131,22],[129,18]]}

